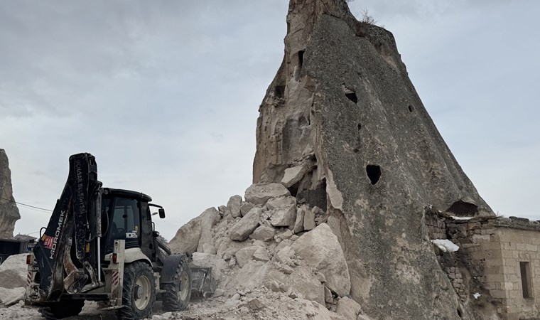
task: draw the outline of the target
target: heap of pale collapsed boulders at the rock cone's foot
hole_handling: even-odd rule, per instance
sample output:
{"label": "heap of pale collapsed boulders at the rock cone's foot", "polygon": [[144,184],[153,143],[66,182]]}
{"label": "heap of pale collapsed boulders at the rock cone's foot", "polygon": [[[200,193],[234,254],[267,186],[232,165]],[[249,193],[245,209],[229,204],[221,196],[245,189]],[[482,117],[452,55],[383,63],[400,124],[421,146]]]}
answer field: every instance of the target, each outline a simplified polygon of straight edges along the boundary
{"label": "heap of pale collapsed boulders at the rock cone's foot", "polygon": [[215,295],[234,300],[267,290],[356,319],[362,309],[349,296],[349,270],[332,218],[297,201],[281,183],[254,184],[244,199],[232,196],[227,206],[190,220],[169,242],[171,250],[212,267]]}

